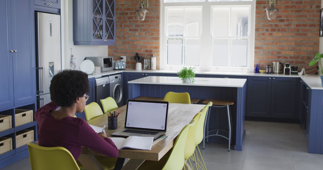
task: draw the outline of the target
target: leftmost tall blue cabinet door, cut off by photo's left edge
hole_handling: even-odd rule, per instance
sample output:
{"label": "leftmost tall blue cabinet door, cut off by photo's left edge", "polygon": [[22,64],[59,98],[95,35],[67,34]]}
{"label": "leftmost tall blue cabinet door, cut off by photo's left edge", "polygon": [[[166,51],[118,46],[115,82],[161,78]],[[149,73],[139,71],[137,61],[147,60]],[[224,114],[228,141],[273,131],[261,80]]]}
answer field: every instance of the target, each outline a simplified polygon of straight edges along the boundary
{"label": "leftmost tall blue cabinet door, cut off by photo's left edge", "polygon": [[7,9],[7,1],[0,1],[0,110],[14,106],[13,70],[11,45],[8,42],[8,23],[10,9]]}

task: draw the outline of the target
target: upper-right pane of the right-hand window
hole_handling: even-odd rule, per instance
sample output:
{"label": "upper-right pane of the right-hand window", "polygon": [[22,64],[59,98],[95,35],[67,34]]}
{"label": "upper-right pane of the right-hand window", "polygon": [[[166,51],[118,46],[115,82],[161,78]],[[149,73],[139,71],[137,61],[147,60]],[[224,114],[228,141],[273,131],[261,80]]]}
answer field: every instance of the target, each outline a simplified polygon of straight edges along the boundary
{"label": "upper-right pane of the right-hand window", "polygon": [[233,7],[231,11],[231,36],[248,36],[249,7]]}

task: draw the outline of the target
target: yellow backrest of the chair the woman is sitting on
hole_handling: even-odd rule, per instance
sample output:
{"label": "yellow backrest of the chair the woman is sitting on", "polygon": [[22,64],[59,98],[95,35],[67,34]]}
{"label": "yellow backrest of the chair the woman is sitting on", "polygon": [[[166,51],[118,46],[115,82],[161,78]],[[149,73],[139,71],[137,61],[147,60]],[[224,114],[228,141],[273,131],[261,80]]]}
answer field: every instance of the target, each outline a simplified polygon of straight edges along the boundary
{"label": "yellow backrest of the chair the woman is sitting on", "polygon": [[64,147],[27,145],[32,170],[79,170],[74,157]]}

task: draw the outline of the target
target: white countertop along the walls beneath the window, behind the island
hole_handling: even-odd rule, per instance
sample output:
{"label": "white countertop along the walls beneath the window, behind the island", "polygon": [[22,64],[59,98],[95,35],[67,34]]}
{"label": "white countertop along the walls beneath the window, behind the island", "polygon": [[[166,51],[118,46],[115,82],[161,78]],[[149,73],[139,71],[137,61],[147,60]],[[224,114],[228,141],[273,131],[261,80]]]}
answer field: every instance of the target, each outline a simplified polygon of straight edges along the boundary
{"label": "white countertop along the walls beneath the window, behind the island", "polygon": [[[99,78],[101,76],[107,76],[110,74],[118,74],[122,72],[138,72],[138,73],[174,73],[175,70],[113,70],[101,73],[93,73],[89,75],[89,78]],[[263,76],[263,77],[300,77],[311,89],[323,90],[321,79],[319,75],[284,75],[284,74],[264,74],[264,73],[253,73],[253,72],[217,72],[217,71],[195,71],[195,74],[207,74],[207,75],[232,75],[232,76]],[[196,78],[195,78],[196,79]]]}

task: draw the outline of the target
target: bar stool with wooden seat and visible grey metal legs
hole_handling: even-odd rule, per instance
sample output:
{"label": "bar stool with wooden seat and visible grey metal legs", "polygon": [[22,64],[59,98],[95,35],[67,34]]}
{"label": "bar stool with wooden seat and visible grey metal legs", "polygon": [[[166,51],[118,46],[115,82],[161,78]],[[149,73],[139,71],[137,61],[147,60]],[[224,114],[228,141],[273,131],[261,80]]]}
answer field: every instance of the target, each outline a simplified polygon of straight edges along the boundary
{"label": "bar stool with wooden seat and visible grey metal legs", "polygon": [[[210,113],[211,113],[211,108],[209,108],[208,112],[206,113],[206,121],[204,122],[204,129],[206,127],[206,132],[204,132],[204,138],[203,138],[203,149],[205,146],[205,138],[206,138],[206,142],[209,142],[209,137],[211,136],[220,136],[220,137],[224,137],[226,139],[228,139],[228,143],[229,143],[229,150],[230,151],[230,145],[232,143],[232,118],[231,118],[231,109],[230,109],[230,105],[234,104],[234,100],[213,100],[213,99],[205,99],[203,101],[203,104],[207,104],[209,102],[212,102],[213,105],[212,107],[215,108],[223,108],[226,107],[226,111],[227,111],[227,115],[228,115],[228,123],[229,123],[229,131],[223,130],[223,129],[214,129],[214,130],[210,130],[209,131],[209,119],[210,119]],[[210,132],[212,131],[216,131],[215,134],[213,135],[209,135]],[[219,131],[224,131],[229,133],[228,137],[225,137],[223,135],[219,135]]]}

